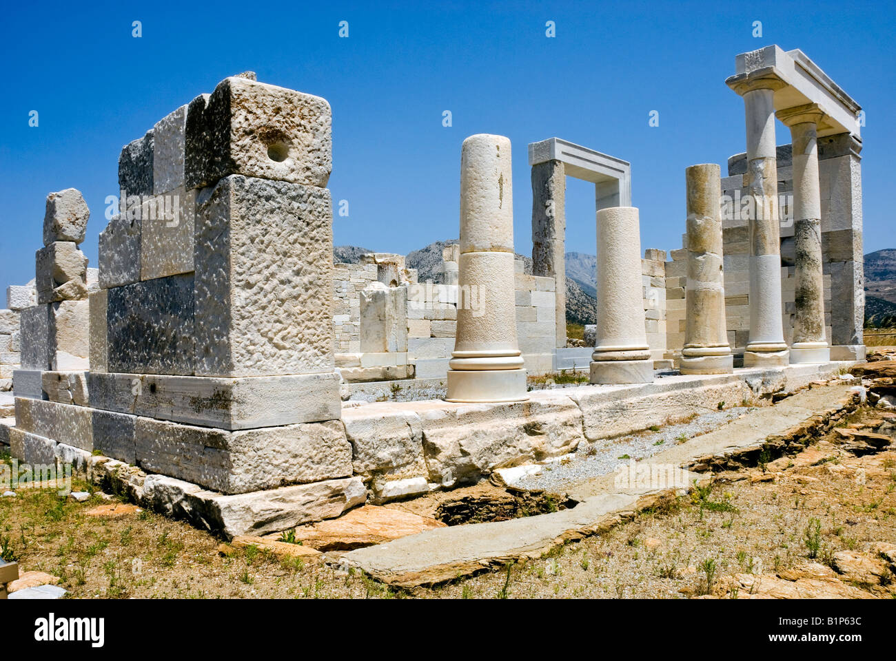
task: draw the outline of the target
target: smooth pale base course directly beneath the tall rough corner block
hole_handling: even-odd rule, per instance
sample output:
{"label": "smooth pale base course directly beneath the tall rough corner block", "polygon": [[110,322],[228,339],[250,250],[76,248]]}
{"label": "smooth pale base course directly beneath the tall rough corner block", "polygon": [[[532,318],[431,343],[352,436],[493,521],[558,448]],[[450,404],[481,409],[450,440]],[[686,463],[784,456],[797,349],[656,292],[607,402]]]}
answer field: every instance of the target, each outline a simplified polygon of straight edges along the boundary
{"label": "smooth pale base course directly beneath the tall rough corner block", "polygon": [[337,419],[336,373],[208,376],[90,373],[90,406],[221,429],[293,425]]}

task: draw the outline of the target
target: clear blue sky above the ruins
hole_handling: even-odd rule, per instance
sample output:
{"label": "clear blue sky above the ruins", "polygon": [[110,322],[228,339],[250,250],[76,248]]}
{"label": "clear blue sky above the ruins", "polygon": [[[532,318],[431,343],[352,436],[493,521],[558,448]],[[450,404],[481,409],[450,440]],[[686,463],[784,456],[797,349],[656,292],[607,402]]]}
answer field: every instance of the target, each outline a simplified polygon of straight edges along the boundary
{"label": "clear blue sky above the ruins", "polygon": [[[680,247],[684,169],[724,171],[745,149],[724,81],[737,53],[771,43],[803,49],[865,108],[866,252],[893,247],[893,14],[888,2],[7,3],[0,286],[33,277],[46,195],[69,186],[90,205],[82,249],[96,266],[122,145],[247,69],[330,101],[330,188],[349,201],[337,245],[408,253],[457,236],[461,142],[500,133],[513,142],[518,252],[531,250],[526,145],[551,136],[630,161],[642,247]],[[570,178],[567,250],[594,253],[594,241],[593,187]]]}

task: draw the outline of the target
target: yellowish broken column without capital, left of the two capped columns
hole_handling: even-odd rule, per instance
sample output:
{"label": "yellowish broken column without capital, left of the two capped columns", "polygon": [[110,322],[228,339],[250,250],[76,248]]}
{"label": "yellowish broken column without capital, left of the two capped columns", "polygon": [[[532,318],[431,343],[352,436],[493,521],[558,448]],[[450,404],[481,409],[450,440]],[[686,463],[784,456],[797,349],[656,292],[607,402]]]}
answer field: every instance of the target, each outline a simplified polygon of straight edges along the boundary
{"label": "yellowish broken column without capital, left of the two capped columns", "polygon": [[725,323],[719,166],[707,163],[685,169],[685,190],[687,316],[681,373],[731,373],[734,356]]}

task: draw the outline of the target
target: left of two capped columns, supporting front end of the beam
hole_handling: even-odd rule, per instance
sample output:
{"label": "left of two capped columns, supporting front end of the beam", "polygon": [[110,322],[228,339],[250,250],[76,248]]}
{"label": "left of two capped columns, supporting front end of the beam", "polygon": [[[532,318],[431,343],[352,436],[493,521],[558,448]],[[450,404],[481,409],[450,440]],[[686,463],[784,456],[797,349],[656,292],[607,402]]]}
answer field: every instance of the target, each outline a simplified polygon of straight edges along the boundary
{"label": "left of two capped columns, supporting front end of the beam", "polygon": [[746,110],[746,194],[754,202],[750,218],[750,339],[745,367],[788,365],[781,304],[778,165],[775,151],[774,93],[785,87],[773,73],[737,82]]}

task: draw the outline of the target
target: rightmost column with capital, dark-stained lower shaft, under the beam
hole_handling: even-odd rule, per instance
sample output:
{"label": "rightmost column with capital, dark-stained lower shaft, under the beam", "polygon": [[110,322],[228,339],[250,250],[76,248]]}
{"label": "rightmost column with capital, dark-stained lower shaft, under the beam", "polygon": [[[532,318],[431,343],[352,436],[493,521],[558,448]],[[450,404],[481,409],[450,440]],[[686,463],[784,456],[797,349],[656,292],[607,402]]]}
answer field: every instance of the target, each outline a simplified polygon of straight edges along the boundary
{"label": "rightmost column with capital, dark-stained lower shaft, under the beam", "polygon": [[824,336],[824,276],[822,273],[822,203],[818,181],[817,104],[780,110],[793,144],[794,236],[797,264],[797,313],[791,363],[826,363],[831,347]]}

